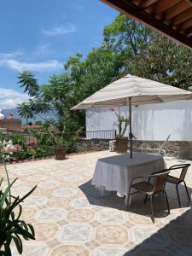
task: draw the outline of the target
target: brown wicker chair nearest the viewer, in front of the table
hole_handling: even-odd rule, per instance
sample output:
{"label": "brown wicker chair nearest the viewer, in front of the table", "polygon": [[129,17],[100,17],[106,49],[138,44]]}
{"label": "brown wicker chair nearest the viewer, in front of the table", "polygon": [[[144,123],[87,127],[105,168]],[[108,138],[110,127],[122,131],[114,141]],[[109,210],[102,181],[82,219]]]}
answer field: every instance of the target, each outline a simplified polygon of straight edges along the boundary
{"label": "brown wicker chair nearest the viewer, in front of the table", "polygon": [[[151,206],[151,219],[154,223],[154,205],[153,205],[153,199],[155,194],[163,193],[166,197],[166,207],[168,213],[170,213],[170,207],[169,207],[169,201],[166,195],[165,191],[165,184],[166,184],[166,177],[168,176],[169,170],[163,170],[160,172],[154,172],[150,176],[145,176],[145,177],[135,177],[131,181],[130,189],[128,192],[127,196],[127,202],[128,202],[128,207],[129,207],[129,201],[130,201],[130,196],[136,193],[142,193],[145,195],[145,203],[147,201],[147,197],[150,197],[150,206]],[[150,183],[151,178],[154,178],[154,183]],[[135,183],[137,179],[141,178],[148,178],[148,182],[142,181],[139,183]],[[131,193],[131,189],[136,189],[136,192]]]}

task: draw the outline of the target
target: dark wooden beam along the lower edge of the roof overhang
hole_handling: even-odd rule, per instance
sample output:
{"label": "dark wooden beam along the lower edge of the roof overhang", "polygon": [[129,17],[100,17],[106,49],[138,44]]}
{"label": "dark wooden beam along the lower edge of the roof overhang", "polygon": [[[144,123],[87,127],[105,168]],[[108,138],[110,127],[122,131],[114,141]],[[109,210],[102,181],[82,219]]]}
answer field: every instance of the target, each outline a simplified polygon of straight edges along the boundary
{"label": "dark wooden beam along the lower edge of the roof overhang", "polygon": [[164,22],[155,19],[152,15],[147,14],[143,10],[139,9],[135,4],[130,1],[124,0],[100,0],[103,3],[107,3],[113,9],[117,9],[119,12],[123,13],[135,19],[139,22],[142,22],[146,26],[160,32],[163,35],[166,35],[168,38],[172,38],[173,40],[182,43],[192,49],[192,41],[189,38],[184,37],[179,32],[172,29],[172,27],[167,26]]}

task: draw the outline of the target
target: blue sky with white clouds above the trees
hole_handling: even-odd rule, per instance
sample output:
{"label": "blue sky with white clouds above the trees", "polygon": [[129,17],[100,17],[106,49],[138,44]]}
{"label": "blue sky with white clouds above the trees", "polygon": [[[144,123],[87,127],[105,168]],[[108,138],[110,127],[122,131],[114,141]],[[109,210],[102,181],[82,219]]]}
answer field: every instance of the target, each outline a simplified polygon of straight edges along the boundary
{"label": "blue sky with white clouds above the trees", "polygon": [[39,84],[64,71],[69,56],[102,43],[102,29],[118,12],[99,0],[6,0],[0,9],[0,108],[24,102],[18,73]]}

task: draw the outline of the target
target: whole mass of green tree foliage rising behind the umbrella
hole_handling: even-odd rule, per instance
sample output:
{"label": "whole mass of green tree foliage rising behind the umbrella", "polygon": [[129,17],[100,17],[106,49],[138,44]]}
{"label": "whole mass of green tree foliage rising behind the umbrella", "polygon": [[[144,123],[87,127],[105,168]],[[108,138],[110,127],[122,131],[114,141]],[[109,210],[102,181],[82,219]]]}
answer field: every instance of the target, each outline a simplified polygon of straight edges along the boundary
{"label": "whole mass of green tree foliage rising behind the umbrella", "polygon": [[52,110],[60,131],[77,131],[84,126],[84,110],[70,109],[127,73],[187,90],[192,84],[192,52],[125,15],[104,27],[101,46],[86,57],[71,56],[64,67],[41,86],[32,73],[20,74],[21,87],[34,96],[29,109],[25,104],[19,107],[22,116]]}

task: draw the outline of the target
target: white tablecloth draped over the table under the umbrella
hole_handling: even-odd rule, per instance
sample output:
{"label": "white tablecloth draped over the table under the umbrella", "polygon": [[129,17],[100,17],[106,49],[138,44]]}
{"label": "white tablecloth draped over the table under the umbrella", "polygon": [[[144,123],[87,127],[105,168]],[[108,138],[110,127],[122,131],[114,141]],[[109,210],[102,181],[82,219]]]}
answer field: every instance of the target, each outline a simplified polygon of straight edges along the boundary
{"label": "white tablecloth draped over the table under the umbrella", "polygon": [[117,195],[127,195],[132,178],[148,176],[165,169],[161,155],[133,153],[119,154],[97,160],[92,185],[117,191]]}

